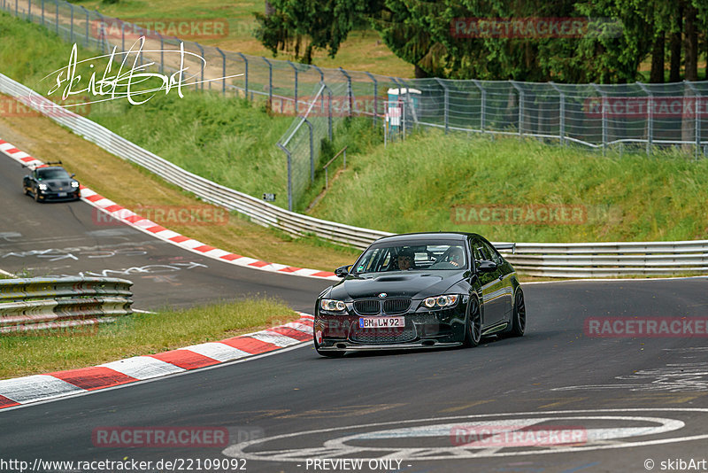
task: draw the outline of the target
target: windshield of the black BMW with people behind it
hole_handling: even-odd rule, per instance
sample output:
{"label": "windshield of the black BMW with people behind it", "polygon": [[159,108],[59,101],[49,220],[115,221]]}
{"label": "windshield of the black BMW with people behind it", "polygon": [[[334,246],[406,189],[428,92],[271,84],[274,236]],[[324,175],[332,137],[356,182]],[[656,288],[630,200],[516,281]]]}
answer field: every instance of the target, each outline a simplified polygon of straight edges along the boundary
{"label": "windshield of the black BMW with people behind it", "polygon": [[384,273],[463,268],[467,268],[467,257],[461,242],[415,242],[369,248],[358,259],[354,270],[356,273]]}

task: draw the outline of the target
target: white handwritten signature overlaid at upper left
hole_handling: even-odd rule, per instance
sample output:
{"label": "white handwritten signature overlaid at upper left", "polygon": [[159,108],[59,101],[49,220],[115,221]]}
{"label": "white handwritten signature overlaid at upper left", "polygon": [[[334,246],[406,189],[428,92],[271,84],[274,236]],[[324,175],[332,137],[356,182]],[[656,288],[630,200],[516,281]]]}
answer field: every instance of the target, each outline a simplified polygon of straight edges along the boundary
{"label": "white handwritten signature overlaid at upper left", "polygon": [[[221,81],[223,79],[243,75],[234,74],[204,81],[190,81],[196,78],[199,73],[185,76],[185,73],[189,71],[189,66],[185,66],[184,64],[185,57],[198,61],[201,67],[197,67],[197,71],[201,71],[201,68],[206,67],[206,59],[196,53],[185,51],[183,43],[180,43],[179,50],[143,50],[144,45],[145,36],[141,36],[127,51],[116,52],[116,47],[114,46],[110,54],[79,60],[76,43],[73,43],[68,64],[65,67],[47,74],[42,78],[42,81],[54,77],[55,83],[49,90],[49,95],[51,96],[52,94],[60,92],[61,100],[66,100],[68,97],[75,95],[104,97],[81,104],[59,105],[63,107],[88,105],[115,100],[117,98],[127,98],[128,102],[132,105],[142,105],[150,100],[150,98],[155,97],[155,95],[162,90],[165,91],[166,95],[170,90],[176,89],[177,94],[182,98],[184,97],[182,87],[208,81]],[[150,66],[154,66],[155,62],[151,61],[142,65],[138,64],[144,53],[161,53],[162,55],[179,54],[179,68],[173,72],[173,74],[148,72],[147,69]],[[92,63],[92,61],[99,59],[106,59],[103,73],[99,73],[96,65]],[[84,63],[87,63],[89,68],[96,69],[91,73],[88,83],[81,74],[76,74],[76,66]],[[118,66],[116,66],[117,64]]]}

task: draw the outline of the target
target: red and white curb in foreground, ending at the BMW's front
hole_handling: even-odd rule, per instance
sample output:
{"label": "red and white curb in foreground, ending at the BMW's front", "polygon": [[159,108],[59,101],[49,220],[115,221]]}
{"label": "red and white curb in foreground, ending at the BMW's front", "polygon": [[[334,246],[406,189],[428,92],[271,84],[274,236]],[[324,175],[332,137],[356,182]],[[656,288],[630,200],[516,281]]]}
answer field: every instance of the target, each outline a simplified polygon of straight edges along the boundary
{"label": "red and white curb in foreground, ending at the BMW's front", "polygon": [[98,391],[273,352],[312,340],[312,323],[312,315],[300,313],[300,319],[296,322],[219,342],[190,345],[179,350],[135,356],[89,368],[0,380],[0,409]]}

